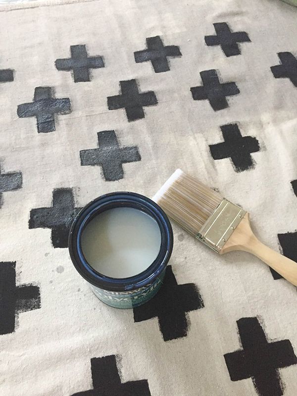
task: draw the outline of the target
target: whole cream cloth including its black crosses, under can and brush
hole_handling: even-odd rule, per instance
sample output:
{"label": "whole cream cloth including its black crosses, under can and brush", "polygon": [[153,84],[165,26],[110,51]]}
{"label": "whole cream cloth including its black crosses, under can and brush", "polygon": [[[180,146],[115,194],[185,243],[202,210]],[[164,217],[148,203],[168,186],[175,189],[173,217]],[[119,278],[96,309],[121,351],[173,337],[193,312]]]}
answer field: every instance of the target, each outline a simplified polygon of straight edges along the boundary
{"label": "whole cream cloth including its black crosses, under can and brush", "polygon": [[[297,260],[297,10],[278,0],[0,8],[0,394],[295,396],[296,288],[173,225],[146,305],[100,302],[67,235],[176,168]],[[87,392],[89,391],[89,392]]]}

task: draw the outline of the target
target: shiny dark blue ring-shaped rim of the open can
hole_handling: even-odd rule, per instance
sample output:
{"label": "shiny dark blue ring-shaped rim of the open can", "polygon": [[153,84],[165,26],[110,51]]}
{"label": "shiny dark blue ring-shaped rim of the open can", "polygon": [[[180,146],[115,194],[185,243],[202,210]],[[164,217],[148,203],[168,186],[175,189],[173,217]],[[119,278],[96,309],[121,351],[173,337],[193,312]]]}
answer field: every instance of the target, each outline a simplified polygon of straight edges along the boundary
{"label": "shiny dark blue ring-shaped rim of the open can", "polygon": [[[84,227],[96,215],[115,207],[132,207],[150,215],[158,224],[161,246],[156,259],[140,274],[129,278],[111,278],[100,274],[87,262],[81,247]],[[74,219],[68,240],[71,260],[79,274],[92,285],[113,292],[125,292],[151,284],[165,269],[173,248],[173,232],[165,212],[154,201],[131,192],[116,192],[102,195],[89,202]]]}

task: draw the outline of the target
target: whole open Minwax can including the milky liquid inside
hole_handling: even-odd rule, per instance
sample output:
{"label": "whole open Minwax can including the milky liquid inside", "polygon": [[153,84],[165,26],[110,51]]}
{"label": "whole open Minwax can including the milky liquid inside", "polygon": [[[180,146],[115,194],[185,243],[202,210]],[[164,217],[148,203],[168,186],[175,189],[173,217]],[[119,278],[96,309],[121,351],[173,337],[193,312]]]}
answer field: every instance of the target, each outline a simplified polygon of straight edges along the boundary
{"label": "whole open Minwax can including the milky liquid inside", "polygon": [[160,288],[173,233],[168,217],[151,199],[111,193],[79,212],[68,245],[75,268],[101,301],[133,308]]}

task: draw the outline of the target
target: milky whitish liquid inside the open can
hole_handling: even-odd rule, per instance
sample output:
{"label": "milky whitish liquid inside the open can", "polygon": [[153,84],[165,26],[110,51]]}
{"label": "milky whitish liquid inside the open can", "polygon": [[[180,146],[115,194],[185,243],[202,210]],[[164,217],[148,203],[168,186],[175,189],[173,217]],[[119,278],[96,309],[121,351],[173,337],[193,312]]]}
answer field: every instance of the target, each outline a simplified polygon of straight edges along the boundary
{"label": "milky whitish liquid inside the open can", "polygon": [[127,278],[143,272],[160,250],[161,233],[148,214],[129,207],[100,213],[82,234],[88,263],[102,275]]}

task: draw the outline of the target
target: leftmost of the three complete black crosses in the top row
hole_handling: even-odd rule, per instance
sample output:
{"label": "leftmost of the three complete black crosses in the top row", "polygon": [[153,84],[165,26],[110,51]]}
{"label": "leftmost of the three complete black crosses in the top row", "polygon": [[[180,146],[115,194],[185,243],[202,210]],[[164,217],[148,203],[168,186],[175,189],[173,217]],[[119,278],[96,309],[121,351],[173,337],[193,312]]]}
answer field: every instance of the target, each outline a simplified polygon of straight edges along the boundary
{"label": "leftmost of the three complete black crosses in the top row", "polygon": [[104,67],[102,56],[90,56],[85,45],[70,46],[71,58],[57,59],[57,70],[73,71],[75,83],[90,81],[90,69]]}

